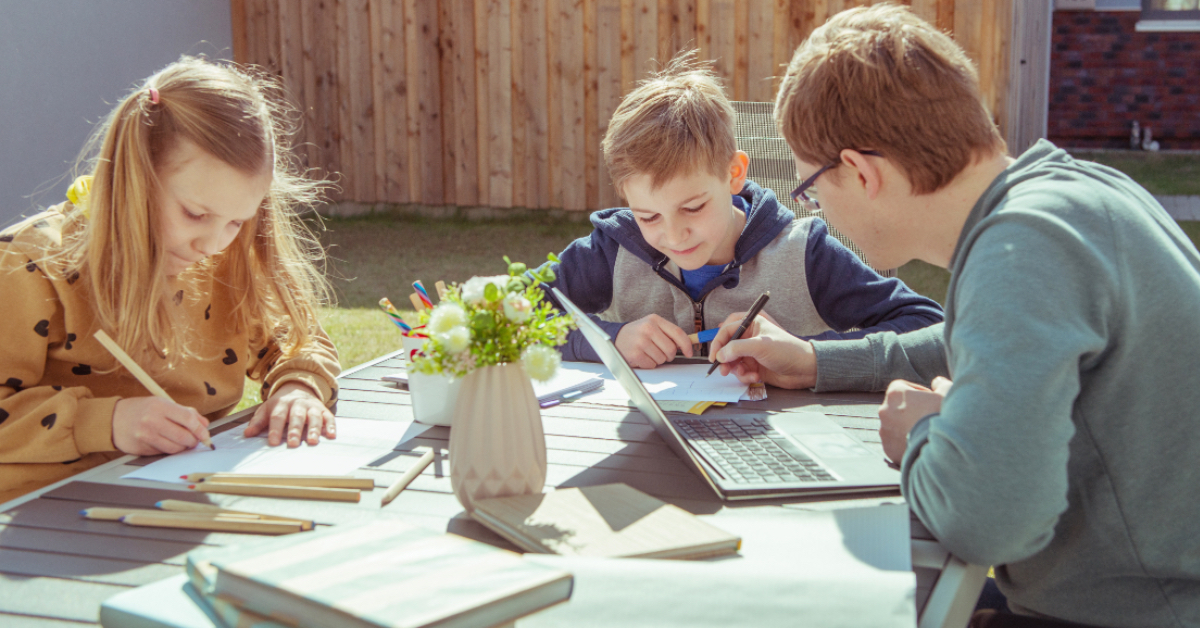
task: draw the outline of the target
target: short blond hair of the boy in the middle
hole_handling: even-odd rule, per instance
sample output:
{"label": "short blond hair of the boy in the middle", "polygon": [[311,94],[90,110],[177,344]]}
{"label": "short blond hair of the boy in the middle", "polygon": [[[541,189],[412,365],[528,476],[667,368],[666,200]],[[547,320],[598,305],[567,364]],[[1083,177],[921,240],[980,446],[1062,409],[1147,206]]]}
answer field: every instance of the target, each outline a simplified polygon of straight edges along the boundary
{"label": "short blond hair of the boy in the middle", "polygon": [[695,172],[725,177],[737,152],[733,106],[712,64],[683,52],[641,82],[613,112],[601,148],[622,196],[637,174],[648,174],[652,187]]}

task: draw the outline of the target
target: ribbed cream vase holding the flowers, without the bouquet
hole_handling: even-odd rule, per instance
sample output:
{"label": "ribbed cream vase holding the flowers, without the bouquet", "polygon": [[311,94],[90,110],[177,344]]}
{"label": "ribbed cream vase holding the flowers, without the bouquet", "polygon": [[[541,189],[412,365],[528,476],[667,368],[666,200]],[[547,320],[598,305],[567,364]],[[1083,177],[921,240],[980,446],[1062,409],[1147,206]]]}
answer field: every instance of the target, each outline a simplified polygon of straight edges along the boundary
{"label": "ribbed cream vase holding the flowers, without the bouquet", "polygon": [[458,388],[450,427],[450,485],[467,512],[476,500],[541,492],[546,437],[521,364],[484,366]]}

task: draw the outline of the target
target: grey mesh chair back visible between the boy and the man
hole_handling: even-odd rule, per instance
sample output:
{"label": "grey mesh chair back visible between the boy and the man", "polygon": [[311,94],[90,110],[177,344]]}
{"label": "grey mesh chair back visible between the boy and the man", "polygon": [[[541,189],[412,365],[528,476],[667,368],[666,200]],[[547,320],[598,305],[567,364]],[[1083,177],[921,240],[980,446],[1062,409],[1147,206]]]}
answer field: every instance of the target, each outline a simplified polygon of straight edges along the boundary
{"label": "grey mesh chair back visible between the boy and the man", "polygon": [[[792,159],[792,150],[787,148],[787,142],[775,127],[775,103],[733,102],[733,110],[737,113],[733,132],[737,137],[738,149],[744,150],[750,156],[750,179],[775,192],[779,202],[794,211],[797,216],[811,216],[812,213],[804,210],[791,197],[792,189],[799,181],[796,180],[796,161]],[[859,258],[863,257],[863,251],[832,225],[829,233]],[[895,269],[876,270],[886,277],[895,276]]]}

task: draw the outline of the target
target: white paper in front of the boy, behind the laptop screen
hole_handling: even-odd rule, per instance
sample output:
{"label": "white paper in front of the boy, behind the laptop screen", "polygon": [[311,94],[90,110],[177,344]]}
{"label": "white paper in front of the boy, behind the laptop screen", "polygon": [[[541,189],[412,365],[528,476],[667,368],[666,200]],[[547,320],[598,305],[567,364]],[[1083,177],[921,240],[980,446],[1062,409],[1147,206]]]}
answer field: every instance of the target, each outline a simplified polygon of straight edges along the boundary
{"label": "white paper in front of the boy, behind the laptop screen", "polygon": [[[637,378],[658,401],[725,401],[733,403],[748,399],[749,385],[743,384],[732,375],[721,376],[720,371],[709,377],[707,364],[664,364],[656,369],[635,369]],[[583,395],[583,400],[593,403],[629,403],[629,395],[617,383],[608,369],[602,364],[590,361],[564,361],[560,369],[583,371],[604,378],[604,389]]]}

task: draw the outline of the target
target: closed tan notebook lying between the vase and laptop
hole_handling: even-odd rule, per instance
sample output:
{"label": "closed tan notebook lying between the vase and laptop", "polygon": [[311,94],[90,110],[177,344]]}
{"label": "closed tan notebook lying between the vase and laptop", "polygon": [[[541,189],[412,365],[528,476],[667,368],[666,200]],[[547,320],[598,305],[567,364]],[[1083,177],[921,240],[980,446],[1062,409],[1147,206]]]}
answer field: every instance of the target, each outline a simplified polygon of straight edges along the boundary
{"label": "closed tan notebook lying between the vase and laptop", "polygon": [[742,546],[740,537],[625,484],[481,500],[472,516],[540,554],[707,558]]}

